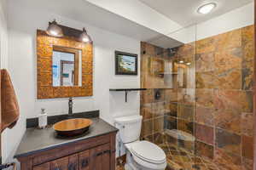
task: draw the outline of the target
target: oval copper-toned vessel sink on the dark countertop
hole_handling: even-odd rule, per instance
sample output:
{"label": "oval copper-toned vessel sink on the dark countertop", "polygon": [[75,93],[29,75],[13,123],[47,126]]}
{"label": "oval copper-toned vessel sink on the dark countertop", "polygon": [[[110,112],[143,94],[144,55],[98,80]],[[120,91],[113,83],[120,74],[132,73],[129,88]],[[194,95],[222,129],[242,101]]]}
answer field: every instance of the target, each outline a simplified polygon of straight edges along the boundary
{"label": "oval copper-toned vessel sink on the dark countertop", "polygon": [[76,136],[87,132],[91,124],[90,119],[74,118],[56,122],[53,128],[61,136]]}

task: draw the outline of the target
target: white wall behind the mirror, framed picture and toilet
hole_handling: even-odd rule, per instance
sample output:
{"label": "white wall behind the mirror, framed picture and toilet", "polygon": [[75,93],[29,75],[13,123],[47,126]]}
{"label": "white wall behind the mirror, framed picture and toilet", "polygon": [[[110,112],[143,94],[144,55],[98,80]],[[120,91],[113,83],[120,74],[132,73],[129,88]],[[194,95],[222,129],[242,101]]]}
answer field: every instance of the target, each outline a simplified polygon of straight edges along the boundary
{"label": "white wall behind the mirror, framed picture and toilet", "polygon": [[74,99],[74,112],[99,109],[101,117],[111,123],[113,116],[139,112],[138,93],[129,94],[128,103],[125,103],[124,94],[109,93],[110,87],[140,86],[139,76],[114,76],[114,50],[140,54],[139,41],[40,8],[30,8],[29,3],[19,0],[9,1],[8,6],[9,71],[18,95],[21,117],[17,126],[3,136],[4,160],[12,158],[25,132],[26,118],[37,116],[41,108],[45,108],[49,115],[64,114],[68,110],[67,99],[36,99],[36,30],[46,29],[49,20],[56,19],[61,25],[77,29],[85,26],[94,40],[94,96]]}

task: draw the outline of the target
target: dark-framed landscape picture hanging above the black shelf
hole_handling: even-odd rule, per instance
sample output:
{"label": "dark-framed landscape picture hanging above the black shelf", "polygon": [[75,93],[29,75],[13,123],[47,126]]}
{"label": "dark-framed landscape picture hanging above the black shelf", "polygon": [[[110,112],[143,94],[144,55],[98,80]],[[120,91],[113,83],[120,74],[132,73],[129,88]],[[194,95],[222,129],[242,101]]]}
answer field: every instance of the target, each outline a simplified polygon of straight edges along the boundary
{"label": "dark-framed landscape picture hanging above the black shelf", "polygon": [[115,75],[137,76],[137,54],[115,51]]}

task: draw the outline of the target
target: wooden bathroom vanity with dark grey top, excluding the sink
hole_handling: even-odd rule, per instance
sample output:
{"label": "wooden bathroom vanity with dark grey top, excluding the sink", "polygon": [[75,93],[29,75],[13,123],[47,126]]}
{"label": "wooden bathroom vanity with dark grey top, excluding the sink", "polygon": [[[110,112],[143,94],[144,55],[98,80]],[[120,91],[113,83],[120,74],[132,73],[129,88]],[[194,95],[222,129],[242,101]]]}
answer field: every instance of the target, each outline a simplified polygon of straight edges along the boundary
{"label": "wooden bathroom vanity with dark grey top, excluding the sink", "polygon": [[[75,114],[74,114],[75,115]],[[52,127],[27,128],[15,158],[21,170],[114,170],[118,129],[99,117],[90,118],[88,133],[63,138]]]}

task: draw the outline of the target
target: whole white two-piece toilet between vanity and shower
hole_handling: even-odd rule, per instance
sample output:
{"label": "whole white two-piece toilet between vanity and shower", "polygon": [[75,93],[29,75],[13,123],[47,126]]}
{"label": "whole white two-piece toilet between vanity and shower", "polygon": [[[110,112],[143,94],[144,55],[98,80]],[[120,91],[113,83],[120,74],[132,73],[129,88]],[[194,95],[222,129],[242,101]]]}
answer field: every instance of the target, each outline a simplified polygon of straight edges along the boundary
{"label": "whole white two-piece toilet between vanity and shower", "polygon": [[125,144],[125,170],[164,170],[166,154],[156,144],[140,141],[143,116],[123,116],[115,119],[119,138]]}

